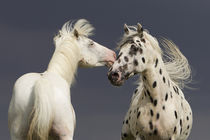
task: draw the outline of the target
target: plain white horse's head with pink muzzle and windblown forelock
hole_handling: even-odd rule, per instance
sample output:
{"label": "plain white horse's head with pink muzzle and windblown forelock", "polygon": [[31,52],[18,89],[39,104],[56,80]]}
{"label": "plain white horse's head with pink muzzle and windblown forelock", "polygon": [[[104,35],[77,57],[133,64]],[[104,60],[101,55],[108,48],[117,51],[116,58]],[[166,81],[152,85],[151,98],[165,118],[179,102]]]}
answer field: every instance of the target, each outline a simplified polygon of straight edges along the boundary
{"label": "plain white horse's head with pink muzzle and windblown forelock", "polygon": [[[116,59],[116,54],[114,51],[88,38],[90,35],[92,35],[93,30],[94,28],[87,20],[80,19],[74,24],[73,27],[69,22],[64,24],[60,34],[71,34],[71,41],[73,41],[74,44],[76,44],[76,46],[79,48],[79,66],[111,66]],[[65,37],[65,35],[61,36]],[[56,42],[59,43],[59,41]]]}

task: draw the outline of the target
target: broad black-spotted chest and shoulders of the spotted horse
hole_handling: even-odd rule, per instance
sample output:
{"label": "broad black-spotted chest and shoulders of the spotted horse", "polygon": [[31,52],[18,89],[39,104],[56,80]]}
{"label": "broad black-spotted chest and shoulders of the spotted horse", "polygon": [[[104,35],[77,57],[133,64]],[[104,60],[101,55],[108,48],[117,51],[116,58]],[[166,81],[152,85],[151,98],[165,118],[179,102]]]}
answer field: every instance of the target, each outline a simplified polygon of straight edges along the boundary
{"label": "broad black-spotted chest and shoulders of the spotted horse", "polygon": [[134,136],[166,139],[189,135],[192,115],[182,92],[167,90],[151,99],[147,92],[138,90],[140,93],[135,93],[124,124]]}

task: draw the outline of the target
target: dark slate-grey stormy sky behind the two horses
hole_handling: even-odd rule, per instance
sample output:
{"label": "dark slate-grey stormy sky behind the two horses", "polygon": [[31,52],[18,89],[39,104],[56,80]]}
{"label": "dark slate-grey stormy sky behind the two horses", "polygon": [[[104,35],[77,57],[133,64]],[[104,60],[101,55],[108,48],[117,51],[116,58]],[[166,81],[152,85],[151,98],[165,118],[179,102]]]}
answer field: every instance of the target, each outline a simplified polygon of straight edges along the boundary
{"label": "dark slate-grey stormy sky behind the two horses", "polygon": [[[86,18],[92,38],[114,49],[123,24],[140,22],[154,36],[173,40],[188,58],[195,90],[184,90],[194,114],[189,140],[209,139],[209,0],[1,0],[0,139],[9,140],[7,110],[15,80],[43,72],[54,51],[53,36],[68,20]],[[111,86],[107,68],[79,69],[72,102],[77,116],[75,140],[117,140],[129,107],[134,81]]]}

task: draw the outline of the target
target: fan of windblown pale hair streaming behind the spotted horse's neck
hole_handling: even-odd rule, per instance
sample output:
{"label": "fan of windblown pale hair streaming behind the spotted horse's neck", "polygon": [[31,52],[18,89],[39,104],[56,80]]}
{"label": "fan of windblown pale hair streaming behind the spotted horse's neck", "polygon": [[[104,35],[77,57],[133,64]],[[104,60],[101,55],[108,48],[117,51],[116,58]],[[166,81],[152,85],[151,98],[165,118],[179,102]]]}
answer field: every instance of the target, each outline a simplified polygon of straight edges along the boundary
{"label": "fan of windblown pale hair streaming behind the spotted horse's neck", "polygon": [[162,38],[161,45],[166,52],[164,54],[164,63],[170,78],[180,88],[188,87],[186,84],[192,81],[192,74],[187,58],[172,41]]}

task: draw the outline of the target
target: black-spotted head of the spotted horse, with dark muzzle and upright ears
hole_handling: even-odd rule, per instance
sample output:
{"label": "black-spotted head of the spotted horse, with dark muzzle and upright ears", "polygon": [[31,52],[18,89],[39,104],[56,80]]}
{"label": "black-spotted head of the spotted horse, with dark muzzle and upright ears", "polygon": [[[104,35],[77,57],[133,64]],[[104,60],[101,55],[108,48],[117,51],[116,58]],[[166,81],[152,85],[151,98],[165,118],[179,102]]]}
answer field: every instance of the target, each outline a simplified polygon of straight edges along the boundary
{"label": "black-spotted head of the spotted horse, with dark muzzle and upright ears", "polygon": [[124,32],[118,46],[119,55],[108,72],[108,79],[115,86],[147,70],[155,63],[157,53],[161,53],[157,40],[144,31],[141,24],[137,27],[125,24]]}

